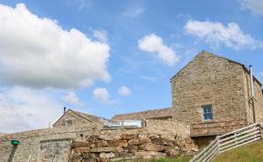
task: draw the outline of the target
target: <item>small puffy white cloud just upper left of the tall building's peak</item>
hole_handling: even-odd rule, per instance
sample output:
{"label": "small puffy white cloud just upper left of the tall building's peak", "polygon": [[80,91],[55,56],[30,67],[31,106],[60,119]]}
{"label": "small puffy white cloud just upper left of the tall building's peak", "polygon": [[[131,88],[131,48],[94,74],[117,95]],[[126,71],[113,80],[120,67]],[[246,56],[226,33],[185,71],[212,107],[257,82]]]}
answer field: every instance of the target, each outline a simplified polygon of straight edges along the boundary
{"label": "small puffy white cloud just upper left of the tall building's peak", "polygon": [[179,56],[174,53],[174,50],[163,45],[163,39],[160,36],[146,35],[138,43],[142,51],[156,52],[158,57],[168,66],[174,66],[179,61]]}

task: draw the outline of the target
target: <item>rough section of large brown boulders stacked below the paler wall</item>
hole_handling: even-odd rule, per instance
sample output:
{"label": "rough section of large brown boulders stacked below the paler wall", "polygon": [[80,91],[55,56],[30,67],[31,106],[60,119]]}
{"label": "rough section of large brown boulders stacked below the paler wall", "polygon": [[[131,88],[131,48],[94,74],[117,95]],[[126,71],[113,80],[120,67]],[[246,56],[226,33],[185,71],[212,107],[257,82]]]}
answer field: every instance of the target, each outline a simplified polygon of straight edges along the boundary
{"label": "rough section of large brown boulders stacked below the paler wall", "polygon": [[[137,132],[137,133],[136,133]],[[141,133],[139,133],[141,132]],[[147,133],[142,129],[102,131],[100,136],[74,140],[71,162],[123,161],[151,157],[193,155],[198,150],[188,137]]]}

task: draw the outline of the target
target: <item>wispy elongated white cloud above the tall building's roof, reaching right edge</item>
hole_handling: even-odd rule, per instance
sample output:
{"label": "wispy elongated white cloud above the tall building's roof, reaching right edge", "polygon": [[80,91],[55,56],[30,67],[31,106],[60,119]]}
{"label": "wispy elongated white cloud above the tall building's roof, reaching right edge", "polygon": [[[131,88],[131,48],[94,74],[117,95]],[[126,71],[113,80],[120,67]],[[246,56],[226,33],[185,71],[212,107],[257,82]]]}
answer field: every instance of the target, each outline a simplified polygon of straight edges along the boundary
{"label": "wispy elongated white cloud above the tall building's roof, reaching right edge", "polygon": [[251,35],[244,34],[236,23],[222,25],[219,22],[189,20],[184,29],[190,34],[205,40],[211,46],[225,46],[234,49],[262,47],[263,43]]}

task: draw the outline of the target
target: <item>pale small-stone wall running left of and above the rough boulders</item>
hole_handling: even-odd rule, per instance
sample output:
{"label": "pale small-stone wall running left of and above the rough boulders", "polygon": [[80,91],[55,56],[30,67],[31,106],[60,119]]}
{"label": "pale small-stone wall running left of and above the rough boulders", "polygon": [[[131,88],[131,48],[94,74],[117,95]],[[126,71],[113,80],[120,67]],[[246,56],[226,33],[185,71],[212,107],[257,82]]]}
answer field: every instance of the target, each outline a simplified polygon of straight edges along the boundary
{"label": "pale small-stone wall running left of and above the rough boulders", "polygon": [[[13,162],[27,161],[31,157],[31,162],[36,162],[37,157],[41,157],[44,152],[48,153],[46,155],[47,159],[52,157],[53,148],[48,148],[47,150],[41,150],[41,142],[43,140],[51,139],[61,139],[61,138],[72,138],[74,140],[86,140],[90,136],[105,136],[109,140],[114,140],[110,136],[113,134],[157,134],[163,138],[173,139],[174,137],[189,137],[187,131],[185,131],[185,125],[176,123],[174,120],[145,120],[145,127],[142,128],[118,128],[118,129],[103,129],[100,123],[94,123],[92,125],[80,126],[80,127],[52,127],[45,129],[30,130],[25,132],[17,132],[14,134],[7,134],[0,137],[0,159],[8,161],[12,152],[12,145],[10,143],[11,139],[18,139],[20,144],[16,147],[16,151],[12,157]],[[111,139],[110,139],[111,138]],[[48,143],[48,142],[47,142]],[[69,145],[67,141],[57,141],[49,142],[50,146],[57,146],[64,149],[66,145]],[[43,148],[43,147],[42,147]],[[64,152],[67,152],[65,149]],[[49,156],[49,157],[48,157]],[[43,157],[43,156],[42,156]],[[44,156],[45,157],[45,156]],[[45,159],[46,159],[45,157]],[[63,157],[63,156],[62,156]],[[64,158],[64,157],[63,157]],[[43,158],[44,159],[44,158]],[[45,161],[45,160],[43,160]],[[59,160],[58,160],[59,161]]]}

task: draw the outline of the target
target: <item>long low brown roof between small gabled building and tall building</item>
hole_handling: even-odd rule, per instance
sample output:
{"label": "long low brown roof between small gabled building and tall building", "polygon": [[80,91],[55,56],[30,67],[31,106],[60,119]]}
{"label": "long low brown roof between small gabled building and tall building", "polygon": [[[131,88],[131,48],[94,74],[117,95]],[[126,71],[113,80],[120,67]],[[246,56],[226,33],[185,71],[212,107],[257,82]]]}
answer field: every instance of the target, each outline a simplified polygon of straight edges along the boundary
{"label": "long low brown roof between small gabled building and tall building", "polygon": [[117,120],[142,120],[142,119],[158,119],[158,120],[168,120],[172,119],[172,109],[171,107],[162,109],[146,110],[128,114],[116,115],[111,118],[113,121]]}

